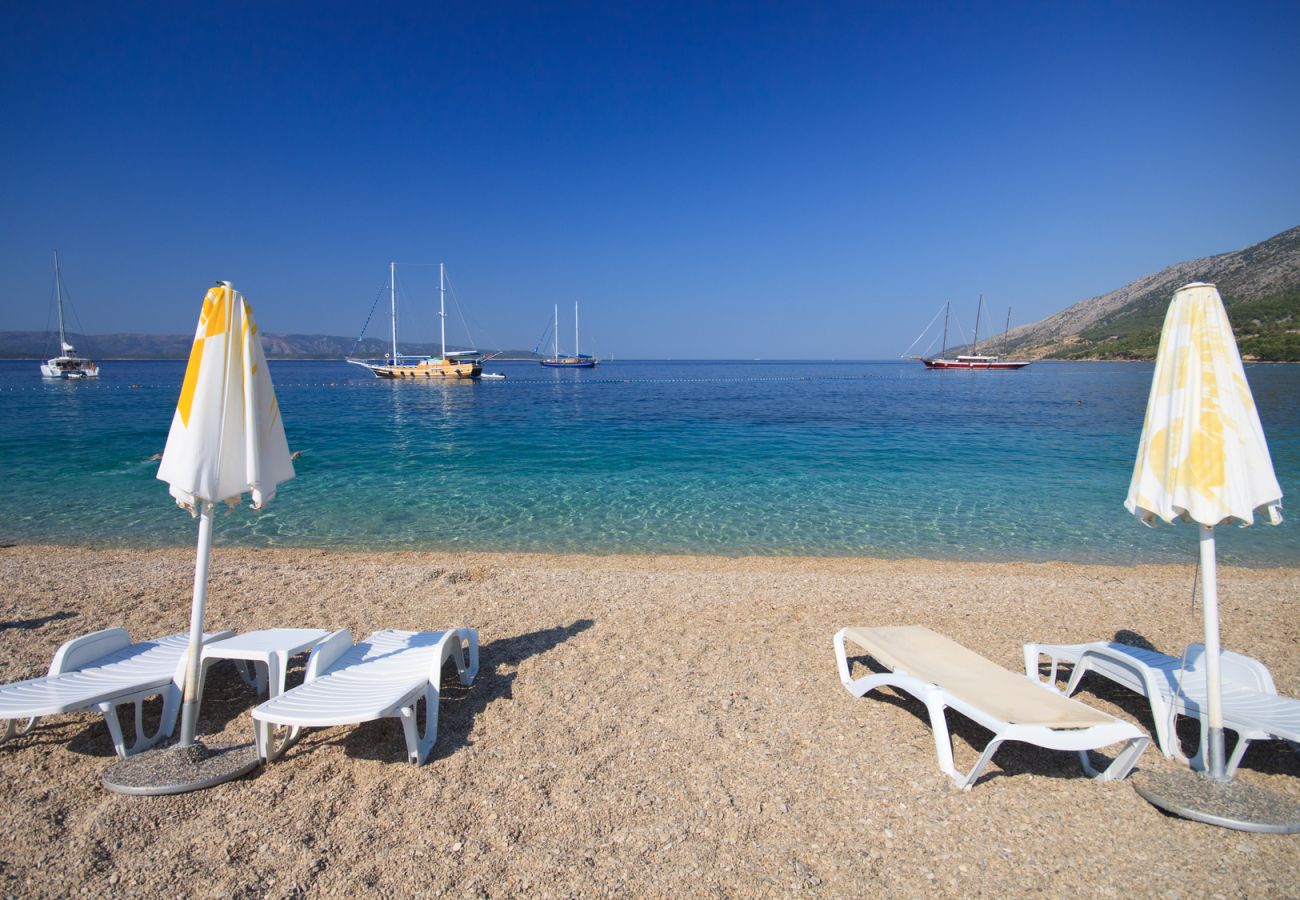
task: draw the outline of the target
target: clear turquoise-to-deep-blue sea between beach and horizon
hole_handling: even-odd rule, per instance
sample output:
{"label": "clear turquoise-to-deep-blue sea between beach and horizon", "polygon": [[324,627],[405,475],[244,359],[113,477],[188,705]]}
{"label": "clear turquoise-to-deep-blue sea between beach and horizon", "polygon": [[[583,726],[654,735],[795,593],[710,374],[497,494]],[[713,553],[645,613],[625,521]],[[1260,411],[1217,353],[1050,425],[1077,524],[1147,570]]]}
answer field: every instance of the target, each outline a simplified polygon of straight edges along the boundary
{"label": "clear turquoise-to-deep-blue sea between beach and horizon", "polygon": [[[0,362],[0,540],[191,545],[155,479],[183,362],[44,382]],[[1188,525],[1123,509],[1150,365],[928,372],[919,363],[636,363],[394,384],[273,362],[298,477],[246,546],[1188,561]],[[1300,367],[1248,369],[1288,497]],[[136,386],[138,385],[138,386]],[[1219,529],[1221,558],[1300,564],[1300,532]]]}

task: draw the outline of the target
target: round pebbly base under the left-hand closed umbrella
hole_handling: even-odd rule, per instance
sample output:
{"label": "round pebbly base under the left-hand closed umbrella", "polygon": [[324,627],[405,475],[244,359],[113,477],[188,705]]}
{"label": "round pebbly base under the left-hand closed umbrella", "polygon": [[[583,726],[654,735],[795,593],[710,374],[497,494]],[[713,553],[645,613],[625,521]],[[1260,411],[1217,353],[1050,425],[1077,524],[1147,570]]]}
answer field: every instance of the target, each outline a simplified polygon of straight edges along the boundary
{"label": "round pebbly base under the left-hand closed umbrella", "polygon": [[161,747],[127,757],[104,770],[104,787],[118,793],[159,796],[202,791],[247,775],[257,767],[252,744]]}

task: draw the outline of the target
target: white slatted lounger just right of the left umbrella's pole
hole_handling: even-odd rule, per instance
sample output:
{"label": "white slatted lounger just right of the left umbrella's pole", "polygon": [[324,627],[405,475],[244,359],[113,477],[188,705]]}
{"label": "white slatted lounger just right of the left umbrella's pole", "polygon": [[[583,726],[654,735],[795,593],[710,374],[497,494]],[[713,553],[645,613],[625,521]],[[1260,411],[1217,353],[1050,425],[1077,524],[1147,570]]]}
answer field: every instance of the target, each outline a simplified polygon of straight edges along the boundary
{"label": "white slatted lounger just right of the left umbrella's pole", "polygon": [[[478,674],[478,632],[389,629],[354,645],[347,631],[335,631],[312,650],[300,685],[254,709],[257,754],[265,761],[280,757],[303,727],[396,718],[402,721],[407,757],[422,765],[438,736],[442,666],[448,658],[456,663],[460,683],[472,684]],[[421,700],[424,734],[416,728]],[[290,728],[278,747],[277,726]]]}

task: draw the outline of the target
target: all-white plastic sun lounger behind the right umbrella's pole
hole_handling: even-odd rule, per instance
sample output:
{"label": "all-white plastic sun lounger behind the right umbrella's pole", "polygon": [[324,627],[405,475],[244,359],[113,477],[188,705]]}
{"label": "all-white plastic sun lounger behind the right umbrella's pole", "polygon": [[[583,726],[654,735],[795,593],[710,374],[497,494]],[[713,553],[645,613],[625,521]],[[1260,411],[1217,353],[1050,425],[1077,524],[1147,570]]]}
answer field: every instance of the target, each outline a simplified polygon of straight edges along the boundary
{"label": "all-white plastic sun lounger behind the right umbrella's pole", "polygon": [[[1176,657],[1126,644],[1026,644],[1024,672],[1030,678],[1039,676],[1041,657],[1050,661],[1048,684],[1053,688],[1061,663],[1072,665],[1066,696],[1078,689],[1086,674],[1097,672],[1147,697],[1161,753],[1193,769],[1205,767],[1209,717],[1205,708],[1204,644],[1187,648],[1186,668]],[[1252,740],[1280,737],[1300,741],[1300,700],[1278,696],[1268,666],[1242,653],[1223,650],[1219,672],[1223,682],[1223,727],[1238,735],[1236,747],[1227,761],[1228,775],[1236,771]],[[1174,719],[1178,715],[1188,715],[1201,723],[1200,745],[1192,758],[1183,753],[1174,734]]]}

